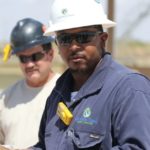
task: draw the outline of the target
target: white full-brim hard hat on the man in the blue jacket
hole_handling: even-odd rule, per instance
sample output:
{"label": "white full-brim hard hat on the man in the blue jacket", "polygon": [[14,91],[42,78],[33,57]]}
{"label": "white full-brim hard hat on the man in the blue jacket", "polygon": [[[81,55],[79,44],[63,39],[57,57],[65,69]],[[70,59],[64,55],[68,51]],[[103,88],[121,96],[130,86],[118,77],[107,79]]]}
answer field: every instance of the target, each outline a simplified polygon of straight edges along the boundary
{"label": "white full-brim hard hat on the man in the blue jacket", "polygon": [[91,25],[106,29],[115,24],[107,18],[100,0],[52,0],[49,27],[44,34]]}

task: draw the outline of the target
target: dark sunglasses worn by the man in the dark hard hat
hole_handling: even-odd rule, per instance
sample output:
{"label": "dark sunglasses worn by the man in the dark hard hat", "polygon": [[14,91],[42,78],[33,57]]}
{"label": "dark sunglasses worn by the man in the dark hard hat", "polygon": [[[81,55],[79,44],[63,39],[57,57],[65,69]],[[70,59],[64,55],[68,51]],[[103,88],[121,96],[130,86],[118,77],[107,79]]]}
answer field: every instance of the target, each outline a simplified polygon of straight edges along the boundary
{"label": "dark sunglasses worn by the man in the dark hard hat", "polygon": [[19,57],[19,60],[21,63],[27,63],[29,61],[37,62],[37,61],[41,60],[44,56],[45,56],[44,52],[37,52],[30,56],[19,55],[18,57]]}

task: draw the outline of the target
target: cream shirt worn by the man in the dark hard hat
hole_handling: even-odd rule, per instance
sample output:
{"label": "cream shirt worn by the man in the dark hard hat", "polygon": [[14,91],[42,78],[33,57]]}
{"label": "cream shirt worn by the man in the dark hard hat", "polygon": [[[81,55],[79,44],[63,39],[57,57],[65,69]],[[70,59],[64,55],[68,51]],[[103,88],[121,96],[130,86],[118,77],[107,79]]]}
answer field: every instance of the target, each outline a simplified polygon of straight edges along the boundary
{"label": "cream shirt worn by the man in the dark hard hat", "polygon": [[20,80],[0,94],[0,144],[23,149],[37,143],[46,99],[59,76],[36,88]]}

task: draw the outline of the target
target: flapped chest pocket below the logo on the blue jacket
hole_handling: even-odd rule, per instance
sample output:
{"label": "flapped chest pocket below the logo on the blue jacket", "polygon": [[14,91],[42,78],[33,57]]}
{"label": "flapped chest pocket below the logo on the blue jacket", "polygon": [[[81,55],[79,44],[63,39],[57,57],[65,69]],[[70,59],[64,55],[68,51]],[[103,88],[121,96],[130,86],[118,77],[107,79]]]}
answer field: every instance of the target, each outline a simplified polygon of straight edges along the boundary
{"label": "flapped chest pocket below the logo on the blue jacket", "polygon": [[99,150],[104,134],[69,129],[67,135],[72,139],[75,149]]}

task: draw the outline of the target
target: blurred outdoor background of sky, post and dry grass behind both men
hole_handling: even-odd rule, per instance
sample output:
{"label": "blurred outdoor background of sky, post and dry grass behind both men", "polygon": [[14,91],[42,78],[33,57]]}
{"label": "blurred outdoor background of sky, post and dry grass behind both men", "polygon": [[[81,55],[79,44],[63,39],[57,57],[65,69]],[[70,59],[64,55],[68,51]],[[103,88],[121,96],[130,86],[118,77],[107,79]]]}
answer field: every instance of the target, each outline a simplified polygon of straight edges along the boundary
{"label": "blurred outdoor background of sky, post and dry grass behind both men", "polygon": [[[107,49],[116,61],[150,76],[150,1],[149,0],[101,0],[109,19],[117,22],[109,30]],[[15,56],[4,63],[4,46],[16,22],[25,17],[38,19],[48,25],[50,0],[0,0],[0,89],[22,78]],[[84,8],[83,8],[84,9]],[[54,71],[63,72],[63,64],[57,47],[53,62]]]}

